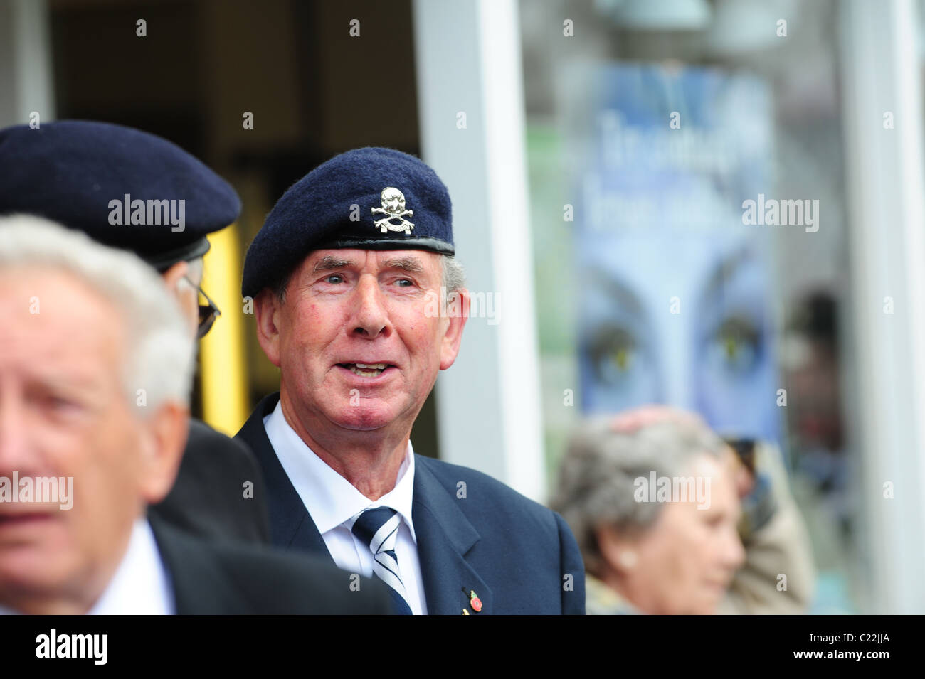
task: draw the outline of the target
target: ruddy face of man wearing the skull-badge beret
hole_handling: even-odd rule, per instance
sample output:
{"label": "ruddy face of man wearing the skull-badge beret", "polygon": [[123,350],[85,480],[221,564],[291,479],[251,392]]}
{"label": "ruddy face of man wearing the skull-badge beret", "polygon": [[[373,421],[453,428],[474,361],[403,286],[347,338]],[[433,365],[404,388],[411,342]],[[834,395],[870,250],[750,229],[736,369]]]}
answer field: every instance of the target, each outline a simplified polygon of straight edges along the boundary
{"label": "ruddy face of man wearing the skull-badge beret", "polygon": [[465,322],[439,313],[439,257],[316,250],[284,302],[263,293],[261,346],[282,372],[284,406],[305,430],[411,429],[438,370],[456,359]]}

